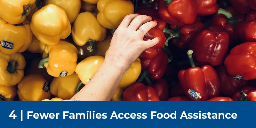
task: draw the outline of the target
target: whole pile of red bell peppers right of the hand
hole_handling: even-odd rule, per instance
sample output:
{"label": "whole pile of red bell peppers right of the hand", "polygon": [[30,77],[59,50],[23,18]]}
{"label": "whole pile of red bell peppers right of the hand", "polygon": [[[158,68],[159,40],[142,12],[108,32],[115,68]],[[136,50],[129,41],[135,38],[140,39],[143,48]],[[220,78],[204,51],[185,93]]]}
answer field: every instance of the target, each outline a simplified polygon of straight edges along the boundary
{"label": "whole pile of red bell peppers right of the hand", "polygon": [[124,101],[256,101],[256,0],[142,0],[157,21]]}

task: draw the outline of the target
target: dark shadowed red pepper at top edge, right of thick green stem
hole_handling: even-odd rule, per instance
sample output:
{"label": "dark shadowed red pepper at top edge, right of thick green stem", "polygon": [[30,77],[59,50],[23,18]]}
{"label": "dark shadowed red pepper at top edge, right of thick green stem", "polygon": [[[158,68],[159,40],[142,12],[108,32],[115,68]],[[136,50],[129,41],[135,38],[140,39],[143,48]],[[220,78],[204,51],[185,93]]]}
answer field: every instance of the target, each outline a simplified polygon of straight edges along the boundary
{"label": "dark shadowed red pepper at top edge, right of thick green stem", "polygon": [[228,0],[228,2],[241,14],[248,14],[252,10],[246,0]]}

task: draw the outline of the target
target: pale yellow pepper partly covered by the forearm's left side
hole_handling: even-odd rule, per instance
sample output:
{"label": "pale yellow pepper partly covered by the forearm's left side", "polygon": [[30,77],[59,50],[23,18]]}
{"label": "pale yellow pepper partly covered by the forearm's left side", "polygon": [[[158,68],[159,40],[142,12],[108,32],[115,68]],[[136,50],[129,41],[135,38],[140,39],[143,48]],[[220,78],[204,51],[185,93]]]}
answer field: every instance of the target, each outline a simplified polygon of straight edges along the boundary
{"label": "pale yellow pepper partly covered by the forearm's left side", "polygon": [[102,56],[89,56],[77,64],[76,74],[78,74],[84,85],[92,79],[92,76],[98,71],[103,61],[104,57]]}

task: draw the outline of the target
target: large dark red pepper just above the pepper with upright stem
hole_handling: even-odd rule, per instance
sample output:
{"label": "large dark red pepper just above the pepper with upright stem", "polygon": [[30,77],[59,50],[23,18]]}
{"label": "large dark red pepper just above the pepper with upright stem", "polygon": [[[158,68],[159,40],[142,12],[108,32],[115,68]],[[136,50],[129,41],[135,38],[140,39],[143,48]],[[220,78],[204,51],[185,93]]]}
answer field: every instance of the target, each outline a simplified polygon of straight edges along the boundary
{"label": "large dark red pepper just above the pepper with upright stem", "polygon": [[200,64],[212,66],[222,64],[228,52],[229,36],[226,32],[214,34],[209,30],[203,30],[190,43],[196,60]]}

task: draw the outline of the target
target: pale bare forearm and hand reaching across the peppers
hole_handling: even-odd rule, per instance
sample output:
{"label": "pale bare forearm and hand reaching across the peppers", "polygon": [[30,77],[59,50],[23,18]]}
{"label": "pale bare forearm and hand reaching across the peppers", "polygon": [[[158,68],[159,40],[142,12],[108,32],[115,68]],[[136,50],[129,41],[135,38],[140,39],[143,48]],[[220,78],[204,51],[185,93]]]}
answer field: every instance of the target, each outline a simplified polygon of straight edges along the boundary
{"label": "pale bare forearm and hand reaching across the peppers", "polygon": [[159,42],[158,38],[143,41],[145,33],[156,25],[157,23],[146,15],[127,15],[116,29],[99,70],[70,100],[110,101],[131,64],[145,49]]}

